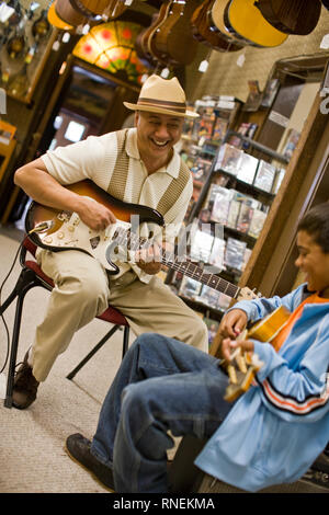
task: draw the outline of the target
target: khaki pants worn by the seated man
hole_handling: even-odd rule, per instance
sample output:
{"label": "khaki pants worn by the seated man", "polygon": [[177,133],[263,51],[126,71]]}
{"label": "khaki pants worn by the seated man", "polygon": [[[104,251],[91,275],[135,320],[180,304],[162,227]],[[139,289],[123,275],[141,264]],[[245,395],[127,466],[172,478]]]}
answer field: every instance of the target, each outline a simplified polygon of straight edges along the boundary
{"label": "khaki pants worn by the seated man", "polygon": [[157,276],[141,283],[134,272],[110,278],[102,265],[80,251],[41,251],[37,261],[55,287],[33,344],[33,375],[44,381],[76,331],[105,311],[109,304],[139,335],[156,332],[207,352],[207,329],[196,313]]}

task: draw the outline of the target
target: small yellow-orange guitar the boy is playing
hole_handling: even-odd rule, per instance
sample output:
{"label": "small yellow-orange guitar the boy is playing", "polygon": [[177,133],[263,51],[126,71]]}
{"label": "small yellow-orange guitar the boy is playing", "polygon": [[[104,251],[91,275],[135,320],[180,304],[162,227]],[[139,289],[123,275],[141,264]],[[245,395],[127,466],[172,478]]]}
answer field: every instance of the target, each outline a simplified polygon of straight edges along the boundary
{"label": "small yellow-orange guitar the boy is playing", "polygon": [[[268,317],[257,322],[251,329],[243,331],[237,341],[253,339],[263,343],[272,343],[286,324],[290,316],[290,311],[280,306]],[[222,366],[227,370],[229,377],[225,400],[232,402],[245,393],[250,388],[254,375],[262,365],[257,354],[242,353],[241,347],[238,347],[232,353],[228,364],[223,360]]]}

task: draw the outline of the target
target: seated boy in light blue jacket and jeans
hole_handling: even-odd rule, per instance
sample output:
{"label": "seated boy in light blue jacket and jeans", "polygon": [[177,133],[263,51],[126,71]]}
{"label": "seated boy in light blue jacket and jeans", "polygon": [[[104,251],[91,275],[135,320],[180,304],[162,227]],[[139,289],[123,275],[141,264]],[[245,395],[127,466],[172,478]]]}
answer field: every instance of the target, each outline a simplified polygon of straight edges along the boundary
{"label": "seated boy in light blue jacket and jeans", "polygon": [[[168,491],[169,430],[211,438],[195,465],[243,490],[302,477],[329,435],[329,203],[300,221],[297,248],[305,284],[282,298],[240,301],[223,319],[224,356],[240,346],[263,363],[243,396],[224,400],[228,379],[215,357],[144,334],[122,362],[92,442],[69,436],[69,454],[120,493]],[[291,317],[277,351],[270,343],[235,341],[247,322],[280,306]]]}

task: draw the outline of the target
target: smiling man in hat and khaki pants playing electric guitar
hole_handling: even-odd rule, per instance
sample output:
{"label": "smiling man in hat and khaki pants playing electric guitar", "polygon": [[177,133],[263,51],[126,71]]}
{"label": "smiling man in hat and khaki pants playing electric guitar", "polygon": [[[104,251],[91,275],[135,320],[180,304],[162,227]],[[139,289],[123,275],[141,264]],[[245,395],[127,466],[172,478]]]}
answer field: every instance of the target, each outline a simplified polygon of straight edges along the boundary
{"label": "smiling man in hat and khaki pants playing electric guitar", "polygon": [[[48,151],[15,172],[15,184],[44,206],[76,213],[91,230],[102,231],[116,218],[109,207],[65,187],[91,180],[113,197],[157,209],[166,227],[175,230],[192,195],[192,179],[174,149],[182,134],[185,94],[175,78],[149,77],[136,104],[135,128],[123,129]],[[166,231],[171,242],[175,230]],[[159,245],[137,252],[133,261],[118,263],[115,275],[80,251],[39,249],[42,270],[53,278],[49,306],[36,329],[33,345],[18,370],[13,405],[27,408],[36,398],[59,353],[75,332],[101,314],[111,304],[126,317],[138,335],[157,331],[201,350],[207,348],[207,331],[200,318],[156,276]]]}

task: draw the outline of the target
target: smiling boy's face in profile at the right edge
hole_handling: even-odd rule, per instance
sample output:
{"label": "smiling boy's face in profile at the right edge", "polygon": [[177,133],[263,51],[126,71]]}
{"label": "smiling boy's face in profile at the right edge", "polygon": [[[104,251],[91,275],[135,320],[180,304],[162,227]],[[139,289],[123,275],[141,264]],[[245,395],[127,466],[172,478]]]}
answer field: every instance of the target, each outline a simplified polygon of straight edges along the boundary
{"label": "smiling boy's face in profile at the right edge", "polygon": [[305,273],[307,289],[309,291],[324,291],[329,297],[329,253],[325,254],[313,237],[306,231],[297,233],[297,248],[299,255],[296,266]]}

